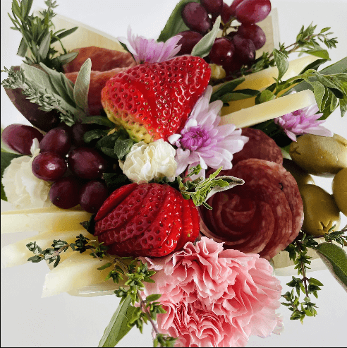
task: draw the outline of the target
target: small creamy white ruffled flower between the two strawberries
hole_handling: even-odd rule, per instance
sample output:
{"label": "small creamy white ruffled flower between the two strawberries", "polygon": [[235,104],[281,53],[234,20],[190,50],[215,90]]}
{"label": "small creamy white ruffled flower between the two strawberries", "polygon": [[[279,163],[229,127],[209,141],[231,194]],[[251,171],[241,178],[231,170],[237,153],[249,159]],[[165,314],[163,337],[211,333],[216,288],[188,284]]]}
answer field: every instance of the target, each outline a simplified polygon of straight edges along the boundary
{"label": "small creamy white ruffled flower between the two strawberries", "polygon": [[173,181],[177,168],[175,155],[175,149],[163,139],[150,144],[140,141],[133,145],[125,162],[120,162],[120,165],[123,173],[138,184],[164,176]]}

